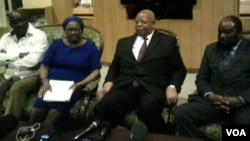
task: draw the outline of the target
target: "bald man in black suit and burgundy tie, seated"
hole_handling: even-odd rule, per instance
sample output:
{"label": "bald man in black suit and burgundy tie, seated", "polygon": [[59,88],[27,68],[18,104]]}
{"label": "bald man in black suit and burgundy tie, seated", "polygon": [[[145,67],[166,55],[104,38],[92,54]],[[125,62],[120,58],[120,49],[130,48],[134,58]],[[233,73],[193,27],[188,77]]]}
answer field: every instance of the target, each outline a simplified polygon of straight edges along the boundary
{"label": "bald man in black suit and burgundy tie, seated", "polygon": [[[117,43],[97,118],[115,127],[127,113],[137,109],[149,132],[164,133],[162,109],[166,103],[169,106],[177,103],[186,68],[176,37],[154,29],[155,15],[151,10],[140,11],[135,22],[136,34]],[[147,47],[143,57],[139,57],[145,38]]]}

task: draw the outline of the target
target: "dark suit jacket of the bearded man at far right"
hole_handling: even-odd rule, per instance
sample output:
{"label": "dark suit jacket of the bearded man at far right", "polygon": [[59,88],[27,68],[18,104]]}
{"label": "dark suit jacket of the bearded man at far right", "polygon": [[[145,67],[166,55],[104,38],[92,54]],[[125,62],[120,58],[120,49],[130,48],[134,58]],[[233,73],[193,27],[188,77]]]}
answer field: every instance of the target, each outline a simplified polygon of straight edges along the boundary
{"label": "dark suit jacket of the bearded man at far right", "polygon": [[250,41],[242,39],[226,73],[220,71],[225,51],[212,43],[205,49],[196,78],[198,93],[214,92],[222,96],[242,96],[250,102]]}

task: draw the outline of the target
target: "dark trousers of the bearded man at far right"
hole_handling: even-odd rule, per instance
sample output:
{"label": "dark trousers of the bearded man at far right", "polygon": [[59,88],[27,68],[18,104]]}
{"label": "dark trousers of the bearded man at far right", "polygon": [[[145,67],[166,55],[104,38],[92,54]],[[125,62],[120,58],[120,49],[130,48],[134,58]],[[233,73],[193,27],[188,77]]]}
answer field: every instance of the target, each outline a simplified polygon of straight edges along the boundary
{"label": "dark trousers of the bearded man at far right", "polygon": [[232,109],[230,114],[214,109],[203,97],[178,106],[175,109],[175,123],[180,136],[205,138],[200,127],[209,123],[250,124],[250,106]]}

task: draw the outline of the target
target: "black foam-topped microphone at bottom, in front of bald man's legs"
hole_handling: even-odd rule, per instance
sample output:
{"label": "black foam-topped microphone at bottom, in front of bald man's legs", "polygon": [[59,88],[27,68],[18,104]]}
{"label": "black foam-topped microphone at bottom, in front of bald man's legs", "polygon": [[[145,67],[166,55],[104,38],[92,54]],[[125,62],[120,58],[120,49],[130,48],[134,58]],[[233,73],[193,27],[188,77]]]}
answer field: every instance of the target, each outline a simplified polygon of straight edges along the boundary
{"label": "black foam-topped microphone at bottom, in front of bald man's legs", "polygon": [[129,141],[145,141],[147,132],[147,126],[143,122],[138,121],[130,130]]}

